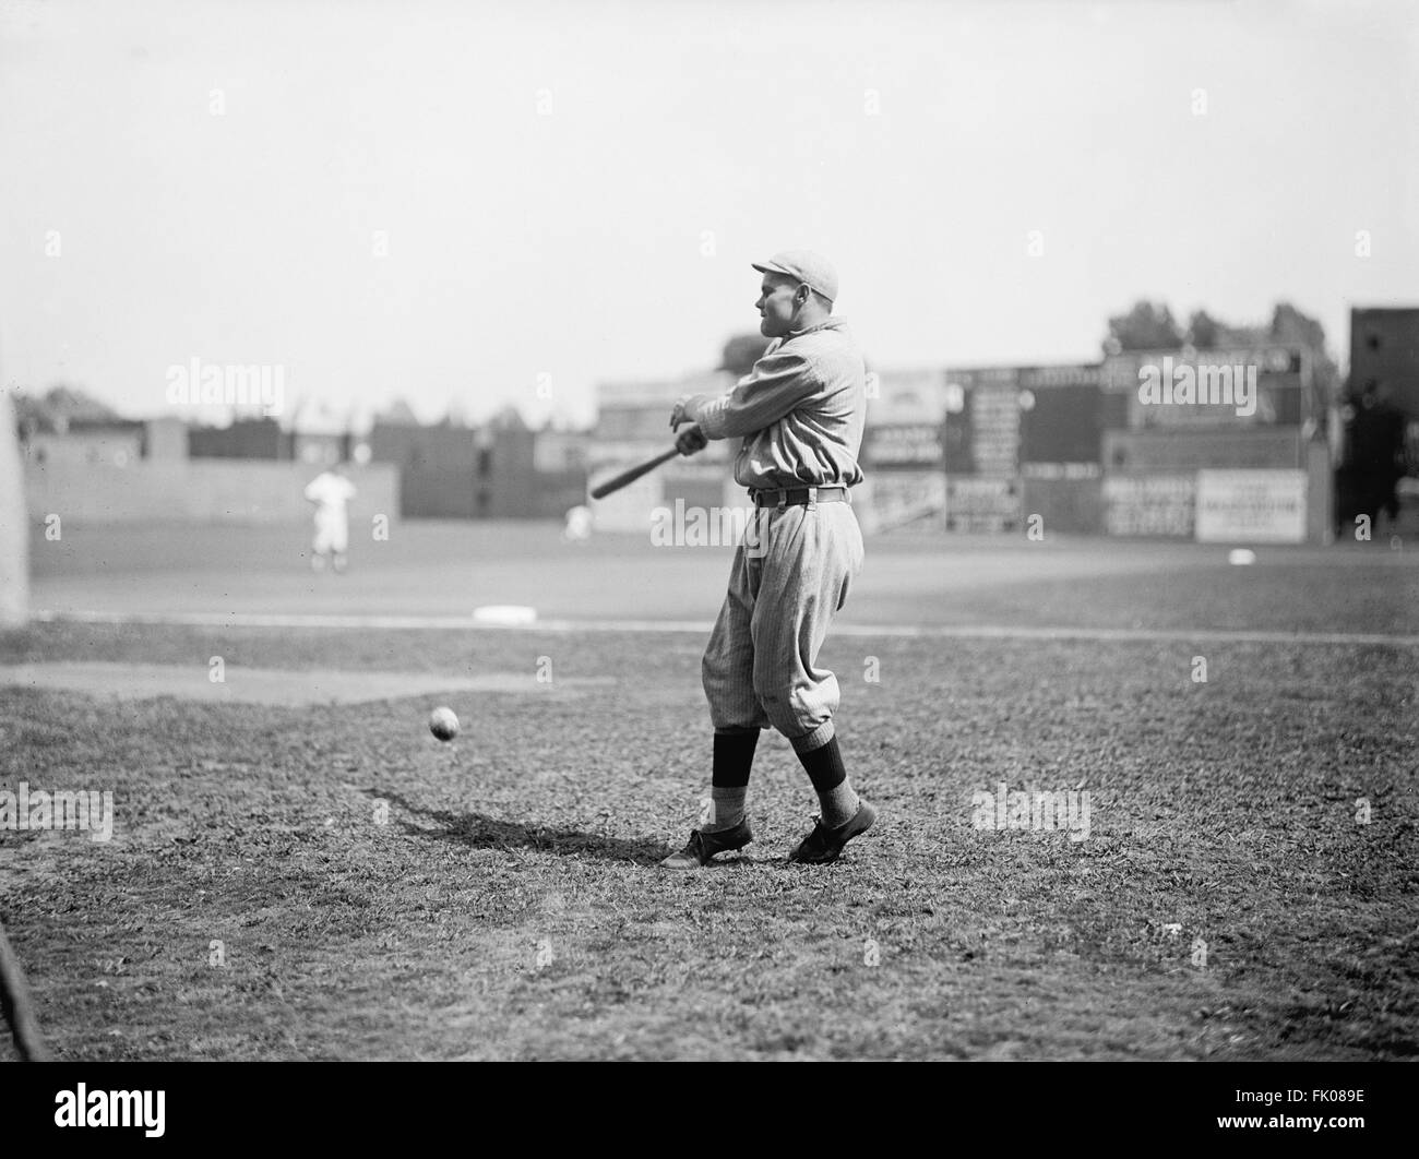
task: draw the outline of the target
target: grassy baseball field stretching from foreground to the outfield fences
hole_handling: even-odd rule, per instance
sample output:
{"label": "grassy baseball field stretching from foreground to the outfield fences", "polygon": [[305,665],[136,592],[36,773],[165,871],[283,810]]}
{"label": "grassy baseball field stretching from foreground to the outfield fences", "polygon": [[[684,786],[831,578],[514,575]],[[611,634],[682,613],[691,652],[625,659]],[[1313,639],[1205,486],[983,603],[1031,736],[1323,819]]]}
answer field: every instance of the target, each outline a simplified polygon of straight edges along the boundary
{"label": "grassy baseball field stretching from foreground to the outfield fences", "polygon": [[[769,733],[755,844],[680,877],[656,861],[708,792],[704,633],[595,621],[708,624],[727,549],[403,525],[333,577],[302,548],[35,542],[55,619],[0,637],[0,665],[115,681],[0,687],[0,787],[115,800],[106,843],[0,831],[0,916],[62,1058],[1419,1054],[1419,549],[1232,567],[1198,545],[870,542],[823,661],[883,820],[833,867],[785,863],[816,803]],[[587,623],[121,621],[490,603]],[[226,702],[219,655],[233,688],[284,670],[454,691]],[[177,694],[112,695],[155,664]],[[424,726],[438,702],[451,745]],[[1087,792],[1087,838],[975,828],[1000,783]]]}

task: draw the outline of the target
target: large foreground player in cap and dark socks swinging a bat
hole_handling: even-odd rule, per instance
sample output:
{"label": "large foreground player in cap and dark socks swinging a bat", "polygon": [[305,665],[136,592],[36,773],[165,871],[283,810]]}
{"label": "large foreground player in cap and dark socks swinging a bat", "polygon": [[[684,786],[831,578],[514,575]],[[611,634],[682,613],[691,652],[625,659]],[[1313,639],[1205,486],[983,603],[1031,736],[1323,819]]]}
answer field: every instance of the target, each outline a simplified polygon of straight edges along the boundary
{"label": "large foreground player in cap and dark socks swinging a bat", "polygon": [[711,438],[744,440],[734,477],[756,508],[701,665],[714,725],[710,819],[661,863],[677,870],[753,840],[744,803],[765,728],[793,743],[820,806],[790,861],[836,861],[877,816],[843,767],[833,728],[837,678],[817,667],[829,624],[863,566],[849,498],[863,479],[863,356],[832,316],[837,274],[826,258],[792,250],[753,268],[763,274],[755,306],[769,348],[728,394],[687,396],[670,416],[677,431],[694,424],[677,437],[681,454]]}

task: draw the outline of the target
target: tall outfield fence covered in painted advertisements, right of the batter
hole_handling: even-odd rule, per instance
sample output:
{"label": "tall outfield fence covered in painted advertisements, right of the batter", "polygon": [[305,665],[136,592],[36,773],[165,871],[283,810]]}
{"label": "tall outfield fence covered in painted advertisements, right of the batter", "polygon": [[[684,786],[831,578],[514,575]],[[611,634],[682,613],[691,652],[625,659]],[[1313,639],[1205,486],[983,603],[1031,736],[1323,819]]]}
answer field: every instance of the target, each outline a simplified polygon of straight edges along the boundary
{"label": "tall outfield fence covered in painted advertisements, right of the batter", "polygon": [[1324,542],[1320,362],[1307,346],[1263,343],[874,375],[864,522]]}

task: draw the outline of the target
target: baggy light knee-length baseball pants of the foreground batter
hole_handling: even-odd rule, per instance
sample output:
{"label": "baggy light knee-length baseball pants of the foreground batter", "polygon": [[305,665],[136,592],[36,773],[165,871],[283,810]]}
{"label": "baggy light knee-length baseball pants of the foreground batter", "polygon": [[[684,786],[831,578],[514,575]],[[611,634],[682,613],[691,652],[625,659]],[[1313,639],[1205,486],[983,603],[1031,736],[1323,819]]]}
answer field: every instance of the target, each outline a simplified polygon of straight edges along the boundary
{"label": "baggy light knee-length baseball pants of the foreground batter", "polygon": [[755,512],[701,664],[715,732],[772,726],[797,752],[833,739],[840,691],[817,653],[861,569],[851,504]]}

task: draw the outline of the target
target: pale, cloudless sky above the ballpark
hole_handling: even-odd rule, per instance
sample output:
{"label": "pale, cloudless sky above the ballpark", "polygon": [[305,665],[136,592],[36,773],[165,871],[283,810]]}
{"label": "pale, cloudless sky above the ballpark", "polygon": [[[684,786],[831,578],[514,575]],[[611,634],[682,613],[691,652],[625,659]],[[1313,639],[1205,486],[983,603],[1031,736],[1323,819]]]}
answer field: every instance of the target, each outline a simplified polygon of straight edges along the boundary
{"label": "pale, cloudless sky above the ballpark", "polygon": [[587,423],[799,247],[880,370],[1090,362],[1138,298],[1344,365],[1419,304],[1419,9],[3,0],[0,165],[0,383],[132,417],[199,359]]}

